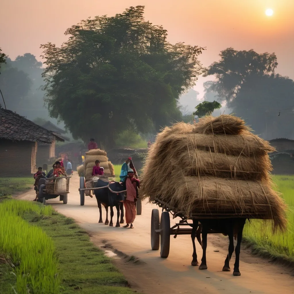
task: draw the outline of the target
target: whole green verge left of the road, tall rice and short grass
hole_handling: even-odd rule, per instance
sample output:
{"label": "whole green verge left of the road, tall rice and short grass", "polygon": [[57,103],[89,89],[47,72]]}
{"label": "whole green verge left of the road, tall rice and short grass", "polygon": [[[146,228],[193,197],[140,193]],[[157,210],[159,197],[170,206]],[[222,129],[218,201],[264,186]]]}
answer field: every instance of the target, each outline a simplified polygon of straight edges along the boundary
{"label": "whole green verge left of the road, tall rice and short grass", "polygon": [[0,219],[0,258],[15,265],[0,259],[1,294],[133,293],[86,231],[51,206],[4,200]]}

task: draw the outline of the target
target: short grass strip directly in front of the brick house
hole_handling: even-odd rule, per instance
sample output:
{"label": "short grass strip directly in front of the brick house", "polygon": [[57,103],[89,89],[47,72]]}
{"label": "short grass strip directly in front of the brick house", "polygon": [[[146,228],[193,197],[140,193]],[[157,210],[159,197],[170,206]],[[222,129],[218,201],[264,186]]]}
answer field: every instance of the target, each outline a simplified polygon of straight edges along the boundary
{"label": "short grass strip directly in front of the brick house", "polygon": [[27,191],[32,188],[34,182],[35,179],[33,176],[19,178],[0,178],[0,196]]}

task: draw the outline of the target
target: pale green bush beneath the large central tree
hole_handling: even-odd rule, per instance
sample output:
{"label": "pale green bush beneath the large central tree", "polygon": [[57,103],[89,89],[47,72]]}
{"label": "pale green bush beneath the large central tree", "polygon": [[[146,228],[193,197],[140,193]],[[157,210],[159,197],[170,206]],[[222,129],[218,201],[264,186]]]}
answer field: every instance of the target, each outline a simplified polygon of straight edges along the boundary
{"label": "pale green bush beneath the large central tree", "polygon": [[147,148],[147,142],[134,131],[122,131],[116,135],[115,145],[118,147]]}

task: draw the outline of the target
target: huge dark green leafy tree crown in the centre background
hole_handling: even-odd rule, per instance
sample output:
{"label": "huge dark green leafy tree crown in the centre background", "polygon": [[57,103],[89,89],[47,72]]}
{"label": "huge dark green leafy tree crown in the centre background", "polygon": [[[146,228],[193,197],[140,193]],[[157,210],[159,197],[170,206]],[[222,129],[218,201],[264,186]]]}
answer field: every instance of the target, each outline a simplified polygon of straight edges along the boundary
{"label": "huge dark green leafy tree crown in the centre background", "polygon": [[137,6],[89,18],[66,31],[61,47],[41,46],[50,115],[74,138],[109,146],[120,131],[158,130],[181,118],[178,98],[202,73],[203,48],[168,43],[167,31],[143,13]]}

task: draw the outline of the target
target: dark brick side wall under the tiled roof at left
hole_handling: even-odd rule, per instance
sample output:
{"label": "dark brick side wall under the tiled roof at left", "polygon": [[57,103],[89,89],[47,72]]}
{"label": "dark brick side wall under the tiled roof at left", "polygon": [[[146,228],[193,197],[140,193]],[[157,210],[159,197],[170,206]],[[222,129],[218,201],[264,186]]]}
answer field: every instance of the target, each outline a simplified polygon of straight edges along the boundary
{"label": "dark brick side wall under the tiled roof at left", "polygon": [[0,176],[25,176],[32,171],[35,142],[0,139]]}

